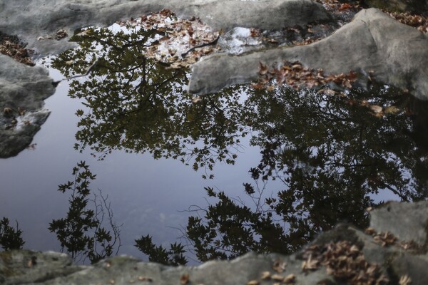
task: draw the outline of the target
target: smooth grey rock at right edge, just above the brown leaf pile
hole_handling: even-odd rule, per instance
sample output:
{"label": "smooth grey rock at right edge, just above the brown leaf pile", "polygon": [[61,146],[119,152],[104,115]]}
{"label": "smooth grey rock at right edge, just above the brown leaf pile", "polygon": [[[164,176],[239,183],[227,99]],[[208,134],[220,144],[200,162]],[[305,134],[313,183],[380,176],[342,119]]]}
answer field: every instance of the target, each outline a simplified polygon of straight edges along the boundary
{"label": "smooth grey rock at right edge, just above the brown leaf pile", "polygon": [[428,202],[389,202],[370,212],[370,227],[400,240],[427,245]]}

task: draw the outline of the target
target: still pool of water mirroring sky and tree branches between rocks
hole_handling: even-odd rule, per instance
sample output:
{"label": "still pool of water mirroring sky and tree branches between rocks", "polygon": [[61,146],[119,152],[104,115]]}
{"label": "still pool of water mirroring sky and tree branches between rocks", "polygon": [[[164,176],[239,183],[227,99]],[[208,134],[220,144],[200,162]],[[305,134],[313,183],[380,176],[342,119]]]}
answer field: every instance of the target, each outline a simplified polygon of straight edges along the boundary
{"label": "still pool of water mirroring sky and tree branches between rocks", "polygon": [[[62,75],[51,73],[84,73],[102,51],[91,73],[46,100],[52,113],[34,150],[0,160],[0,217],[19,222],[25,248],[61,249],[48,227],[69,195],[56,190],[81,160],[123,224],[119,253],[145,259],[134,244],[147,234],[168,247],[185,232],[184,244],[206,243],[200,260],[288,253],[337,222],[367,227],[366,207],[427,199],[427,103],[376,83],[347,93],[233,86],[192,100],[188,71],[165,69],[133,43],[153,33],[86,36],[54,61]],[[196,206],[205,212],[183,212]],[[185,229],[189,216],[203,226]]]}

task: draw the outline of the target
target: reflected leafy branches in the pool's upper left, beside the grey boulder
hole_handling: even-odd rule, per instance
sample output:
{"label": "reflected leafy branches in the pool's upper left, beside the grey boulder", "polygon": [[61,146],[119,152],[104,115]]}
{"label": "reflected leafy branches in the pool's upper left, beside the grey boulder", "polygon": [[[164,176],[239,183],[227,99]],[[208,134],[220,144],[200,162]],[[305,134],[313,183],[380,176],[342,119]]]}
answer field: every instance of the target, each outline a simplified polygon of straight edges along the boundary
{"label": "reflected leafy branches in the pool's upper left, beside the grey boulder", "polygon": [[187,71],[168,68],[144,56],[165,29],[111,31],[88,29],[75,36],[81,48],[66,51],[52,66],[64,76],[91,72],[74,80],[69,96],[83,99],[76,148],[90,146],[101,159],[112,150],[151,152],[198,167],[233,163],[239,138],[240,87],[192,103],[185,93]]}

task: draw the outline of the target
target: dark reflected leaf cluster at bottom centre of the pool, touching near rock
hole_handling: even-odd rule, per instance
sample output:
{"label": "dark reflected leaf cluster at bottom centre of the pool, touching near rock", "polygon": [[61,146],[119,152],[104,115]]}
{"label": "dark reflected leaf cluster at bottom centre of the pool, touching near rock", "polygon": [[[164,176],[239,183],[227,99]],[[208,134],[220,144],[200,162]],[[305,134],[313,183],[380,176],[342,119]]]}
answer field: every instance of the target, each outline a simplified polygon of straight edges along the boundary
{"label": "dark reflected leaf cluster at bottom centre of the pool, touching near rock", "polygon": [[[248,190],[249,185],[245,187]],[[206,209],[192,209],[198,214],[189,217],[185,232],[200,261],[232,259],[250,251],[282,254],[292,251],[289,234],[274,213],[260,204],[263,202],[260,195],[252,195],[255,207],[249,207],[225,192],[215,192],[210,187],[205,191],[218,202]]]}

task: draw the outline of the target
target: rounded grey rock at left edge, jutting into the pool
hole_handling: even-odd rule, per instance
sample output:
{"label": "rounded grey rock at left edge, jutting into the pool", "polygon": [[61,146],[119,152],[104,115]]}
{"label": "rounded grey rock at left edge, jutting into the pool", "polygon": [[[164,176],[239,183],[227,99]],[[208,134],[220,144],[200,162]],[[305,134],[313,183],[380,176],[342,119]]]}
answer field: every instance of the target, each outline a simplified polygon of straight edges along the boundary
{"label": "rounded grey rock at left edge, jutting into the pool", "polygon": [[49,116],[43,110],[44,99],[55,89],[45,68],[26,66],[2,54],[0,66],[0,157],[4,158],[31,143]]}

